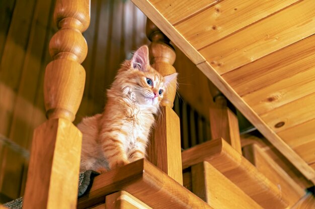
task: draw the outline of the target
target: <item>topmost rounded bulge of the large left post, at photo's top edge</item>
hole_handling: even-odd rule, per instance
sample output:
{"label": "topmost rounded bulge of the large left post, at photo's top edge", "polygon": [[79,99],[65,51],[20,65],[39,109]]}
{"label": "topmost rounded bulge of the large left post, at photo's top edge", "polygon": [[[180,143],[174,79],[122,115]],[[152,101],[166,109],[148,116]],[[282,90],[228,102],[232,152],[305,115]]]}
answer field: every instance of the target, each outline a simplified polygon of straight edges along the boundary
{"label": "topmost rounded bulge of the large left post, at photo's top edge", "polygon": [[57,1],[54,10],[54,21],[59,29],[71,25],[70,28],[76,28],[82,33],[90,25],[90,8],[90,0]]}

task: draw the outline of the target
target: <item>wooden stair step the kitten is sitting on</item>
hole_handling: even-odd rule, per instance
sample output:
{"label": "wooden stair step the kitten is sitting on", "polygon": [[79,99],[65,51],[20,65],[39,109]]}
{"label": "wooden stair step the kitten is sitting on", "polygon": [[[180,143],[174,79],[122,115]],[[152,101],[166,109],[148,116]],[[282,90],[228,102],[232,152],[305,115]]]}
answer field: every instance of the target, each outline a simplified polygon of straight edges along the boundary
{"label": "wooden stair step the kitten is sitting on", "polygon": [[152,208],[212,208],[145,159],[103,173],[94,178],[77,208],[104,203],[105,196],[124,190]]}

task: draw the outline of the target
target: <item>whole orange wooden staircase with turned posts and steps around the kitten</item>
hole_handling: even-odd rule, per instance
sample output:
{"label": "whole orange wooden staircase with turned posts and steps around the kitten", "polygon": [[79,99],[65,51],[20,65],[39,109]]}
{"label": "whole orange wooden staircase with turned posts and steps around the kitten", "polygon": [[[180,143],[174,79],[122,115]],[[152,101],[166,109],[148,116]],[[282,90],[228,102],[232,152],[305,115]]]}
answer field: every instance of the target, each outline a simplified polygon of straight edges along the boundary
{"label": "whole orange wooden staircase with turned posts and steps around the kitten", "polygon": [[[86,46],[78,32],[89,24],[88,6],[89,0],[58,0],[56,4],[54,17],[60,30],[50,47],[54,61],[47,66],[45,80],[48,121],[34,135],[24,208],[76,207],[82,136],[71,122],[84,86],[79,63],[85,58]],[[152,41],[153,67],[162,75],[175,72],[170,40],[150,21],[146,34]],[[75,47],[82,50],[75,51]],[[49,73],[53,70],[58,73]],[[77,94],[69,100],[73,91]],[[255,167],[242,155],[237,120],[222,95],[214,95],[216,108],[210,113],[212,134],[218,139],[181,153],[179,118],[172,110],[175,93],[176,83],[163,101],[162,116],[156,119],[148,160],[95,177],[89,192],[78,199],[78,208],[287,208],[304,194],[279,169],[265,172],[261,164],[251,160]],[[220,123],[216,123],[218,118]],[[257,154],[254,159],[258,160]],[[294,201],[276,185],[277,180],[282,189],[296,191]]]}

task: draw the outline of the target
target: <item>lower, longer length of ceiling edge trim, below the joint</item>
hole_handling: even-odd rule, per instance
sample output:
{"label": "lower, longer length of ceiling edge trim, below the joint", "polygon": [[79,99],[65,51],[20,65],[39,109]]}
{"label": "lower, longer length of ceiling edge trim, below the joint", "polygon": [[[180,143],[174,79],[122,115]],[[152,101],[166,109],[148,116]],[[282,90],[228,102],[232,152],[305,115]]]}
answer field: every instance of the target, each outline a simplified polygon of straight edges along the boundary
{"label": "lower, longer length of ceiling edge trim, below the joint", "polygon": [[296,154],[267,124],[251,109],[242,97],[211,67],[208,62],[196,65],[219,90],[244,114],[244,116],[277,148],[307,179],[315,183],[314,170]]}

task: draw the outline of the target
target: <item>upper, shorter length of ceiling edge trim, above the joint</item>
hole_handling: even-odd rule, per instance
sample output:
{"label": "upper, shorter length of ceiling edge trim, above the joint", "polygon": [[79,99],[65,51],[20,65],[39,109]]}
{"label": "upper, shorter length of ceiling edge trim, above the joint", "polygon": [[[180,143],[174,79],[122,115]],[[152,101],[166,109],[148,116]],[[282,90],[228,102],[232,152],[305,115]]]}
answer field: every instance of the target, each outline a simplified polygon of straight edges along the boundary
{"label": "upper, shorter length of ceiling edge trim, above the joint", "polygon": [[198,64],[206,60],[148,0],[131,0],[131,2],[161,29],[193,63]]}

